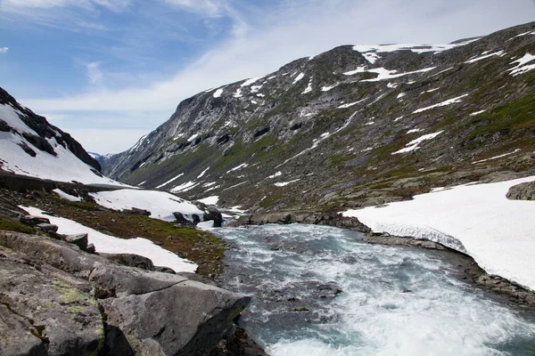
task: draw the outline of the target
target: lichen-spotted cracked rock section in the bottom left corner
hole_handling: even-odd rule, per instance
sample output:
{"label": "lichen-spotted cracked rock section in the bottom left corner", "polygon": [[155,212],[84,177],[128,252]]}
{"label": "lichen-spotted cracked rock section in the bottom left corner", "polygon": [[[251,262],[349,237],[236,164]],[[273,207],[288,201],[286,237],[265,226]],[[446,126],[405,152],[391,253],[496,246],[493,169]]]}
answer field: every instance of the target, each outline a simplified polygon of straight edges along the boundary
{"label": "lichen-spotted cracked rock section in the bottom left corner", "polygon": [[5,355],[96,353],[104,329],[87,283],[0,247],[0,350]]}

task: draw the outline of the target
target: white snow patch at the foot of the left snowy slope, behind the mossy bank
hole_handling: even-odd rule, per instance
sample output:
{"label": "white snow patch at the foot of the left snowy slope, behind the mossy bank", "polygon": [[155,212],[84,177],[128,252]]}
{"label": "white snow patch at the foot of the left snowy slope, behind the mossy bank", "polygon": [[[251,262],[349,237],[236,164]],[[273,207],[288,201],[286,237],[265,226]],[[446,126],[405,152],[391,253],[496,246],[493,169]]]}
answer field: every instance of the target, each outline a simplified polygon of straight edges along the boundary
{"label": "white snow patch at the foot of the left snowy slope, behind the mossy bank", "polygon": [[137,207],[150,211],[151,217],[166,222],[175,221],[174,212],[185,216],[202,215],[202,211],[187,200],[165,191],[157,190],[113,190],[90,193],[97,204],[115,210]]}

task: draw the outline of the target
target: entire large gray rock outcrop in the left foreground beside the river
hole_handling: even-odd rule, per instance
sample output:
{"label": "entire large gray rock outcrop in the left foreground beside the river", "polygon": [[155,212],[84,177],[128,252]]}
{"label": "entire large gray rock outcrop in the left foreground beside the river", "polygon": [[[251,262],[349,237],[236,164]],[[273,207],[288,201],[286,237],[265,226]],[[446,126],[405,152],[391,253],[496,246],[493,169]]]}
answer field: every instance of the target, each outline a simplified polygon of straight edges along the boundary
{"label": "entire large gray rock outcrop in the left foreground beside the river", "polygon": [[0,353],[202,355],[249,298],[0,231]]}

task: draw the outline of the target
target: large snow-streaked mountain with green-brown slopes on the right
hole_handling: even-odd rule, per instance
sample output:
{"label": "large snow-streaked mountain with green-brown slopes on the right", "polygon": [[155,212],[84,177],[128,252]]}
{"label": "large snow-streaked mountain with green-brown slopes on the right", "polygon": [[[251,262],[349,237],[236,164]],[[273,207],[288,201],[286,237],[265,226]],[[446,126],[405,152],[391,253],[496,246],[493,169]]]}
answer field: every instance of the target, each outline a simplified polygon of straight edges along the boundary
{"label": "large snow-streaked mountain with green-brown slopes on the right", "polygon": [[535,22],[444,45],[342,45],[180,102],[103,172],[252,211],[533,174],[531,69]]}

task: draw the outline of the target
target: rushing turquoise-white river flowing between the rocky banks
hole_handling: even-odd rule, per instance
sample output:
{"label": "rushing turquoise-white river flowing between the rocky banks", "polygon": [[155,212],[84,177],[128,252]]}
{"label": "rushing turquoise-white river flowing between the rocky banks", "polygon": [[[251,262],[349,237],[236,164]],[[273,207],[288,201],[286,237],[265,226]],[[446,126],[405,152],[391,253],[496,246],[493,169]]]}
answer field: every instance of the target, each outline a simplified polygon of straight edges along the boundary
{"label": "rushing turquoise-white river flowing between the rocky banks", "polygon": [[[314,225],[214,231],[239,321],[273,356],[535,355],[535,316],[475,288],[447,253]],[[451,254],[449,254],[451,255]]]}

